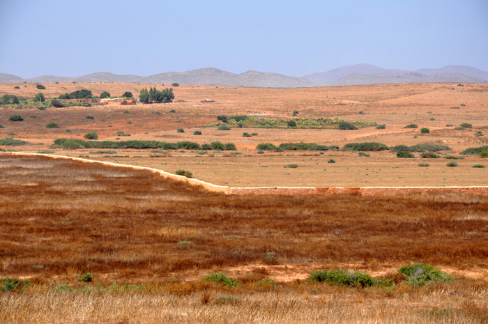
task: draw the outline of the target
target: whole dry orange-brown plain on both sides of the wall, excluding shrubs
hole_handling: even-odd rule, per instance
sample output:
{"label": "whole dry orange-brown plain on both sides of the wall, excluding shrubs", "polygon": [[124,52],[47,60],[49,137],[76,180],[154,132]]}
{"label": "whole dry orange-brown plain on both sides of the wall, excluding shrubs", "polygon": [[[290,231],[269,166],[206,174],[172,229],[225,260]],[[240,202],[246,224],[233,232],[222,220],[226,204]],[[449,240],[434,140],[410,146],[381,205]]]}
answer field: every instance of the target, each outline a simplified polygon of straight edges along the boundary
{"label": "whole dry orange-brown plain on both sides of the wall, excluding shrubs", "polygon": [[[0,95],[31,98],[39,92],[33,84],[14,86],[1,84]],[[45,86],[43,93],[51,97],[81,88],[95,95],[163,88]],[[486,195],[226,196],[162,180],[150,171],[49,157],[68,155],[170,173],[185,169],[197,179],[232,187],[484,186],[487,168],[473,165],[487,164],[487,159],[459,153],[487,145],[487,85],[179,86],[174,93],[175,102],[158,105],[0,110],[0,139],[29,142],[1,146],[3,150],[49,151],[38,156],[0,153],[0,322],[488,322]],[[200,102],[206,98],[215,102]],[[14,114],[24,121],[9,121]],[[386,126],[203,127],[222,114],[339,118]],[[47,123],[60,127],[46,128]],[[418,128],[404,128],[412,123]],[[456,129],[462,123],[472,128]],[[429,134],[421,134],[421,128],[429,128]],[[194,135],[197,130],[202,134]],[[83,139],[92,131],[98,132],[98,141],[221,141],[235,144],[237,151],[125,148],[98,154],[107,150],[52,146],[55,139]],[[479,131],[485,136],[475,136]],[[243,132],[258,134],[243,137]],[[258,153],[256,148],[288,142],[450,149],[423,159],[417,152],[414,158],[399,158],[392,151],[360,156],[356,151]],[[451,161],[458,167],[447,167]],[[284,168],[289,164],[297,167]],[[414,284],[397,272],[413,263],[434,265],[450,277]],[[364,272],[373,279],[366,277],[363,286],[353,287],[307,279],[311,272],[330,269],[351,270],[347,273],[355,276]],[[220,283],[215,276],[202,279],[215,273]],[[6,281],[12,277],[19,279]]]}

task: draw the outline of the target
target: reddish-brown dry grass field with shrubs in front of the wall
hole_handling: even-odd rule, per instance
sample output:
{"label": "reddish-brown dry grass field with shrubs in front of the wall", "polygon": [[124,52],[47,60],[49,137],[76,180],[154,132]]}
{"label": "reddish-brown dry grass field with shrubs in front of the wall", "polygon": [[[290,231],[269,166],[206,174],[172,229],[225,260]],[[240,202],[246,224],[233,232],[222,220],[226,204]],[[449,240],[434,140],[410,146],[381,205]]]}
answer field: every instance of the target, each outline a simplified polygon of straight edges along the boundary
{"label": "reddish-brown dry grass field with shrubs in front of the wall", "polygon": [[487,196],[224,196],[0,166],[1,323],[488,321]]}

